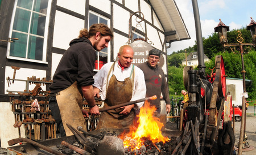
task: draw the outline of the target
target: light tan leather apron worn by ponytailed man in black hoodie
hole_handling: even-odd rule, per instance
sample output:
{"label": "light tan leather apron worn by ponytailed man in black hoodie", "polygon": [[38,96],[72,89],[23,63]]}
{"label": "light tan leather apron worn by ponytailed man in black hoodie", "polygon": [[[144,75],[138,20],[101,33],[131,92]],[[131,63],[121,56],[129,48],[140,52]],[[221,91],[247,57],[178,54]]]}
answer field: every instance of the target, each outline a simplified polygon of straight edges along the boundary
{"label": "light tan leather apron worn by ponytailed man in black hoodie", "polygon": [[72,127],[77,128],[81,126],[86,128],[85,119],[82,115],[82,95],[77,89],[77,82],[73,83],[68,88],[60,91],[56,95],[57,104],[60,109],[60,116],[63,122],[66,136],[73,135],[66,123],[71,124]]}

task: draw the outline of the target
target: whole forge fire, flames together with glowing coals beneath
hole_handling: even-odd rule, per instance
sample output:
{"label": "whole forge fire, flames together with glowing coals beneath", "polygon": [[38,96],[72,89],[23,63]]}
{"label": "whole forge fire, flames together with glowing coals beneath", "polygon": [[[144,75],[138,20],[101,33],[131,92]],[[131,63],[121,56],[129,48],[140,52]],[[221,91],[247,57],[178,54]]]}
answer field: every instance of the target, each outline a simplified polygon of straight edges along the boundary
{"label": "whole forge fire, flames together with glowing coals beneath", "polygon": [[160,122],[159,118],[154,117],[155,110],[156,107],[150,106],[146,101],[137,116],[139,117],[138,128],[136,130],[130,128],[129,133],[123,132],[119,135],[127,154],[130,154],[129,152],[135,154],[154,152],[155,154],[155,152],[167,149],[164,145],[171,139],[162,135],[161,129],[164,124]]}

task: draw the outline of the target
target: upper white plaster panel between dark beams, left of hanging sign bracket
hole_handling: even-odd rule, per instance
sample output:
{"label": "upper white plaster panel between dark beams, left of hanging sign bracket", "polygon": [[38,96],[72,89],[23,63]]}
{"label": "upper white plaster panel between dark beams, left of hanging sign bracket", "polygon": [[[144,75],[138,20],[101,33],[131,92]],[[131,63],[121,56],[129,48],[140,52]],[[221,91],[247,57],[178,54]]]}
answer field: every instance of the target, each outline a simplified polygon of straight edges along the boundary
{"label": "upper white plaster panel between dark beams, left of hanging sign bracket", "polygon": [[115,29],[118,29],[119,31],[122,31],[128,34],[129,18],[130,18],[130,14],[128,11],[114,4],[113,26]]}

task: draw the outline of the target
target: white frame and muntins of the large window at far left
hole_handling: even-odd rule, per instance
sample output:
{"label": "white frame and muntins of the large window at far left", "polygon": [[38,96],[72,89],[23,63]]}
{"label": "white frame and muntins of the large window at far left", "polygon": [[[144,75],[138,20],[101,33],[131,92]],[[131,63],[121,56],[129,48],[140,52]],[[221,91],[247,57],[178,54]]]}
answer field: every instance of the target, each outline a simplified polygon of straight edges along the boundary
{"label": "white frame and muntins of the large window at far left", "polygon": [[[14,18],[15,18],[17,3],[18,3],[18,0],[15,0],[13,15],[11,16],[11,25],[10,25],[10,31],[9,31],[9,38],[11,38],[11,35],[13,34],[13,32],[19,32],[19,31],[15,31],[15,30],[13,31],[13,24],[14,24]],[[11,48],[11,44],[12,44],[11,42],[9,42],[7,44],[7,53],[6,53],[7,59],[16,59],[16,60],[19,60],[19,61],[37,62],[37,63],[44,63],[44,64],[48,63],[46,61],[46,55],[47,55],[48,25],[49,25],[49,15],[50,15],[50,12],[51,12],[51,4],[52,4],[52,0],[48,0],[47,13],[46,13],[46,25],[45,25],[45,29],[44,29],[44,36],[43,37],[40,36],[41,38],[44,38],[42,61],[35,60],[35,59],[27,59],[27,58],[20,58],[20,57],[10,56],[10,48]],[[34,12],[34,11],[31,11],[31,12]],[[36,12],[36,13],[42,14],[40,12]],[[22,32],[19,32],[19,33],[22,33]],[[37,35],[31,35],[31,36],[37,36]],[[29,37],[28,37],[28,39],[29,39]],[[27,51],[26,51],[26,53],[27,53]]]}

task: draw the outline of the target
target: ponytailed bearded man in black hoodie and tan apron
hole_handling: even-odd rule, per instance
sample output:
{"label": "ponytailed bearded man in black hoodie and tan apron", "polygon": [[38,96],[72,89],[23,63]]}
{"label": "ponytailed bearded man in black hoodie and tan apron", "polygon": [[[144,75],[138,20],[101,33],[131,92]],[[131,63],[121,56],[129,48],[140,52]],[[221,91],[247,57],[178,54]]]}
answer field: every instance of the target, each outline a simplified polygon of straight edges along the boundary
{"label": "ponytailed bearded man in black hoodie and tan apron", "polygon": [[[97,58],[96,50],[107,48],[112,38],[113,32],[107,25],[93,24],[89,31],[81,29],[79,37],[70,42],[70,47],[63,54],[53,75],[53,83],[49,87],[51,90],[49,108],[61,136],[66,135],[63,119],[73,117],[72,113],[75,113],[72,111],[72,103],[75,102],[80,108],[82,107],[81,93],[89,104],[90,114],[100,115],[93,96],[93,69]],[[68,113],[69,109],[70,113]],[[86,114],[83,110],[82,113]],[[88,116],[88,113],[86,115]]]}

